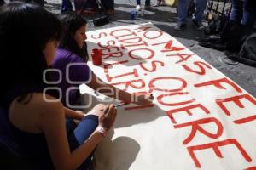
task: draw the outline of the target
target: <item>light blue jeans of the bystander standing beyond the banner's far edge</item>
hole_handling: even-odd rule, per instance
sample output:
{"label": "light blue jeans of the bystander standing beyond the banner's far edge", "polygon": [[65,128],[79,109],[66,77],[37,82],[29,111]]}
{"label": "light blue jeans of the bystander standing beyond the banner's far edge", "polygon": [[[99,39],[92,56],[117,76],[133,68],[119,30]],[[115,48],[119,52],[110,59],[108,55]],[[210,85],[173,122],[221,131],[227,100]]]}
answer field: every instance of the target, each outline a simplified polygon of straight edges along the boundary
{"label": "light blue jeans of the bystander standing beyond the banner's far edge", "polygon": [[[177,1],[177,21],[179,23],[187,22],[188,7],[189,0]],[[193,19],[201,21],[206,8],[207,0],[195,0],[195,13],[193,14]]]}

